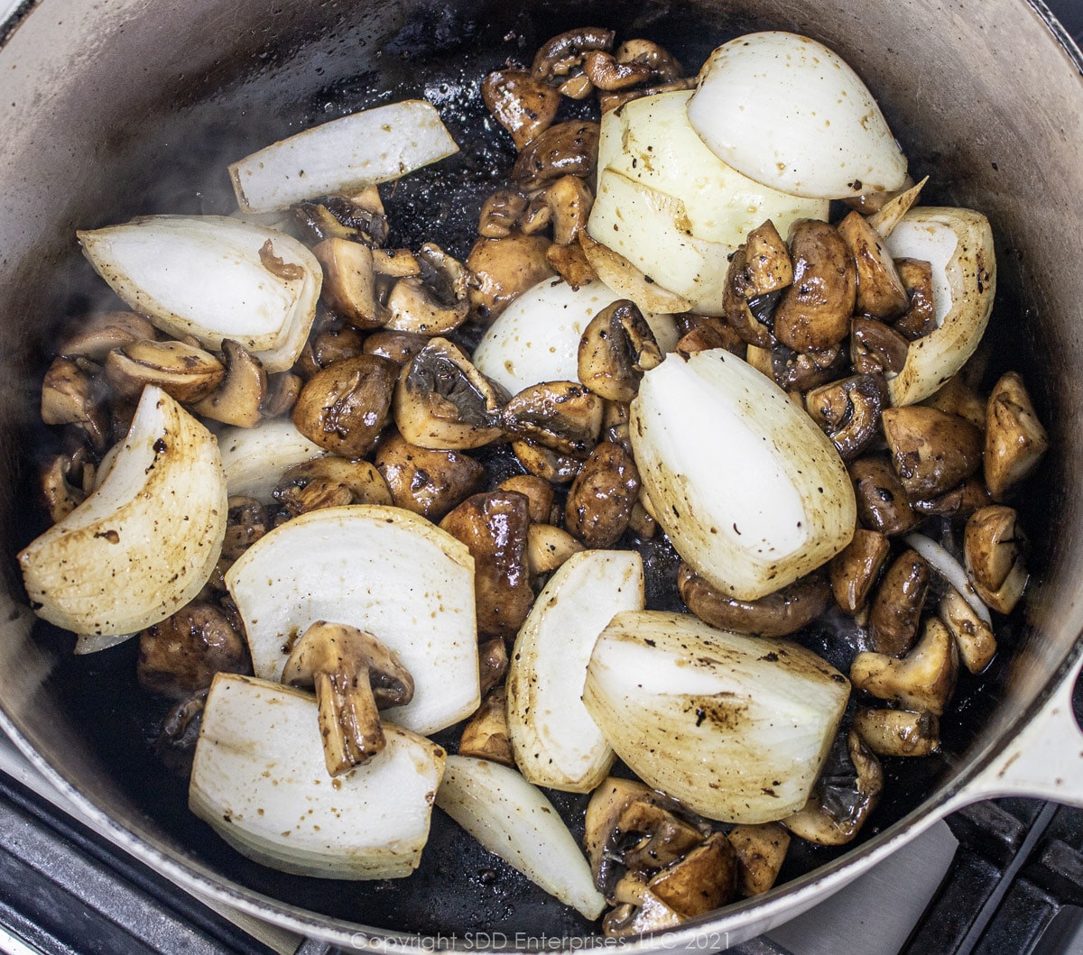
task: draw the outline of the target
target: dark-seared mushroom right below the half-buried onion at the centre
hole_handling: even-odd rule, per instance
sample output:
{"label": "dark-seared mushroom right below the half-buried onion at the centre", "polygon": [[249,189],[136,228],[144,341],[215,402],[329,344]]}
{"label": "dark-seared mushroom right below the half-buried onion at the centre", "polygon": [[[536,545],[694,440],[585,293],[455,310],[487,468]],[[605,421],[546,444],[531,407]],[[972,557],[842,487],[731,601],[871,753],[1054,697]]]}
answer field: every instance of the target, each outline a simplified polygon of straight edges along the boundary
{"label": "dark-seared mushroom right below the half-buried onion at the centre", "polygon": [[559,454],[585,457],[598,443],[604,403],[577,381],[524,388],[504,407],[504,428]]}

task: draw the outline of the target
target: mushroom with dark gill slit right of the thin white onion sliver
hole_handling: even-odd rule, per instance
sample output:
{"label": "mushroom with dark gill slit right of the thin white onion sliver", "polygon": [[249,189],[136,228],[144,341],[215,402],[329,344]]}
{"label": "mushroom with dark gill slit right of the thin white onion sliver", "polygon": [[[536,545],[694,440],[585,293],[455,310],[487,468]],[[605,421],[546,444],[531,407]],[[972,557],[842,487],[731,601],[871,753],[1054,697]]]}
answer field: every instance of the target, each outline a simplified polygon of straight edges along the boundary
{"label": "mushroom with dark gill slit right of the thin white onion sliver", "polygon": [[997,613],[1012,613],[1027,587],[1021,547],[1025,541],[1014,508],[990,505],[975,511],[966,522],[966,576],[978,596]]}

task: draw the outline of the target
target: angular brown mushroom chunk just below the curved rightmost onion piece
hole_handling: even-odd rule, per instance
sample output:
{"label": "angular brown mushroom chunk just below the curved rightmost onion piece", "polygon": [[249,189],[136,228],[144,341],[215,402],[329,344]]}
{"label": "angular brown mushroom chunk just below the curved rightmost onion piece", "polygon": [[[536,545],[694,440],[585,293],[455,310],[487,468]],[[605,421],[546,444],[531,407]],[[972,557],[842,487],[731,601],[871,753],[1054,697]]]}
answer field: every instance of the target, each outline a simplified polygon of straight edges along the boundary
{"label": "angular brown mushroom chunk just below the curved rightmost onion piece", "polygon": [[924,405],[885,408],[891,465],[911,498],[936,497],[981,467],[981,432],[957,415]]}

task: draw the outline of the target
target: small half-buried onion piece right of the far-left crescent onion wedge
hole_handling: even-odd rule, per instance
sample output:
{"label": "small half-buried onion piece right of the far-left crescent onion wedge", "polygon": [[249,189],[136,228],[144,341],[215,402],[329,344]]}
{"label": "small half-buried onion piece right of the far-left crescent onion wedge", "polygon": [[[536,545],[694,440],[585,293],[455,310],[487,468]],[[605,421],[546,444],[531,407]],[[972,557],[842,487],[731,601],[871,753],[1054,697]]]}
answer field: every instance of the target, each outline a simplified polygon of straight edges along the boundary
{"label": "small half-buried onion piece right of the far-left crescent onion wedge", "polygon": [[288,416],[256,428],[223,428],[218,446],[230,497],[255,497],[263,503],[271,502],[285,471],[329,454],[301,434]]}

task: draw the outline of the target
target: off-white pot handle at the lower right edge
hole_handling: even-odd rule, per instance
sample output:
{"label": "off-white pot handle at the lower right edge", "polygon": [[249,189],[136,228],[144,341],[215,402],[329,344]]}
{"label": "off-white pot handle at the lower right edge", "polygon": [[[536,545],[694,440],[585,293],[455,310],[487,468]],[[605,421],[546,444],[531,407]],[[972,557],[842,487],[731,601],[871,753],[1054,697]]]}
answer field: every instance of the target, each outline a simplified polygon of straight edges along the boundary
{"label": "off-white pot handle at the lower right edge", "polygon": [[1083,730],[1075,722],[1072,693],[1083,670],[1083,651],[1022,729],[977,776],[961,801],[1028,796],[1083,807]]}

